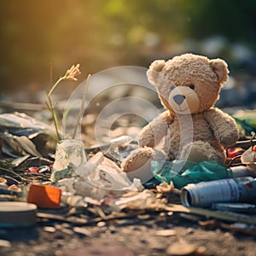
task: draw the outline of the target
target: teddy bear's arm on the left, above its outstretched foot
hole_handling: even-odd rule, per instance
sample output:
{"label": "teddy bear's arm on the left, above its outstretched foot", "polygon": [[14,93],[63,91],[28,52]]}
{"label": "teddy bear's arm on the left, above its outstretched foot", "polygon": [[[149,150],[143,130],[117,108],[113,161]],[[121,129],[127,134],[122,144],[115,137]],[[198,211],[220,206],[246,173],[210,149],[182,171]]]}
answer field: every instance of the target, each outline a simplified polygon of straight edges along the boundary
{"label": "teddy bear's arm on the left, above its outstretched foot", "polygon": [[168,125],[172,123],[172,116],[167,110],[160,113],[148,125],[146,125],[140,133],[139,145],[141,147],[154,148],[160,140],[166,136]]}

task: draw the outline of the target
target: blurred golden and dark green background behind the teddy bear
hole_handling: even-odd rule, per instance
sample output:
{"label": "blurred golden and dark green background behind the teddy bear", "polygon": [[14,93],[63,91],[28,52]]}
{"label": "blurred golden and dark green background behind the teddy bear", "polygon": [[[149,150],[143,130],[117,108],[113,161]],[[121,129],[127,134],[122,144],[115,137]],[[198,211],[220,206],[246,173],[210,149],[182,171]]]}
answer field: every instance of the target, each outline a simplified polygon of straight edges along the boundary
{"label": "blurred golden and dark green background behind the teddy bear", "polygon": [[0,5],[1,99],[22,92],[36,102],[34,93],[49,88],[50,67],[55,80],[79,62],[83,81],[109,67],[148,67],[155,59],[192,52],[229,64],[231,79],[220,107],[255,106],[255,1],[9,0]]}

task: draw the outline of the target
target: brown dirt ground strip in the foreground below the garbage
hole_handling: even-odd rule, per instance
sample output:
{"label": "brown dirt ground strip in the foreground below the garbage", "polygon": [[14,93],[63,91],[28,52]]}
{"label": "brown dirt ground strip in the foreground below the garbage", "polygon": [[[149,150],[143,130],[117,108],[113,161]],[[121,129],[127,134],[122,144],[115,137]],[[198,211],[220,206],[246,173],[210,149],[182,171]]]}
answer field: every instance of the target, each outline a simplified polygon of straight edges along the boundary
{"label": "brown dirt ground strip in the foreground below the garbage", "polygon": [[255,236],[220,224],[177,212],[145,212],[90,225],[38,218],[34,228],[0,230],[0,238],[13,240],[0,240],[0,255],[256,255]]}

